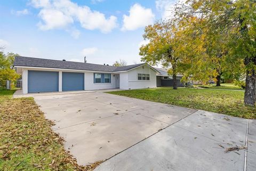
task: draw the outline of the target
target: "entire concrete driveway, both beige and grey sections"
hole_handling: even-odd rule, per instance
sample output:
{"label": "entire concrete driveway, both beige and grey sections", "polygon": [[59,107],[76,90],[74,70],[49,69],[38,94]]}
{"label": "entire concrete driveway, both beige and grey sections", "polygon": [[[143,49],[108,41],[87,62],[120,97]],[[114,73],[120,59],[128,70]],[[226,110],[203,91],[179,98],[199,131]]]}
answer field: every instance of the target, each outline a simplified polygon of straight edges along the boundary
{"label": "entire concrete driveway, both beige and grey sections", "polygon": [[247,119],[100,91],[34,98],[78,164],[108,159],[97,171],[256,170],[255,120],[246,141]]}

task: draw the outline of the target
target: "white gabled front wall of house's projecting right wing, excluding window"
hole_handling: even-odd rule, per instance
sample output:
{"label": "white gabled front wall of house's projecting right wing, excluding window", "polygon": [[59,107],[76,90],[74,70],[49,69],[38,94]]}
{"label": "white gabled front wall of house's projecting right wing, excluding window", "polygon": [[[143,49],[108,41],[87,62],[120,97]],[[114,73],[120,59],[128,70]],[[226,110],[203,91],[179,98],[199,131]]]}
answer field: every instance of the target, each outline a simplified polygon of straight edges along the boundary
{"label": "white gabled front wall of house's projecting right wing, excluding window", "polygon": [[[143,69],[144,68],[144,69]],[[147,65],[138,67],[127,72],[128,74],[128,87],[125,89],[138,89],[138,88],[155,88],[156,87],[156,71],[149,68]],[[149,74],[149,80],[138,80],[138,74]]]}

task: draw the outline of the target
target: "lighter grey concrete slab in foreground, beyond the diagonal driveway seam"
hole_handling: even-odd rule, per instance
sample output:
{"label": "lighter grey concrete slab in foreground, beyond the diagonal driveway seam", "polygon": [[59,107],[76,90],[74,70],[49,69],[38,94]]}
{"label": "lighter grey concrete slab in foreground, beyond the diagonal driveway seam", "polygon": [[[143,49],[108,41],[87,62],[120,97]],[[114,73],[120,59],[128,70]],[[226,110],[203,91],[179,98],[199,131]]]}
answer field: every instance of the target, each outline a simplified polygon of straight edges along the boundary
{"label": "lighter grey concrete slab in foreground, beyond the diagonal driveway seam", "polygon": [[[103,162],[95,171],[256,170],[256,121],[197,111]],[[234,146],[248,150],[225,152]],[[247,156],[247,157],[246,157]]]}

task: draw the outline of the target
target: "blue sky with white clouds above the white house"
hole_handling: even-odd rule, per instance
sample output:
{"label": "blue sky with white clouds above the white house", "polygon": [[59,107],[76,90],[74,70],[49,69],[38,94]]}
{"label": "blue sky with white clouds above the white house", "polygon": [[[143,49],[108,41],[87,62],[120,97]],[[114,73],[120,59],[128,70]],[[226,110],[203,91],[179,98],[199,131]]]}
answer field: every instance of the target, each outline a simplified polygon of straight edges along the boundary
{"label": "blue sky with white clouds above the white house", "polygon": [[140,62],[143,29],[174,0],[0,0],[0,46],[46,59]]}

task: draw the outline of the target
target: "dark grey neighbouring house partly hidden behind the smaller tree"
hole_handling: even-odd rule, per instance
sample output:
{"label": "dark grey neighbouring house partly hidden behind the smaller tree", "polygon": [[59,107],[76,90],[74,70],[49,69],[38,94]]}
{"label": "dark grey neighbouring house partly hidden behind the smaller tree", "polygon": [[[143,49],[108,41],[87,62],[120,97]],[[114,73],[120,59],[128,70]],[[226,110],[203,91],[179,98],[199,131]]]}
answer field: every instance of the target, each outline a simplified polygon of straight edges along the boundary
{"label": "dark grey neighbouring house partly hidden behind the smaller tree", "polygon": [[[163,68],[155,68],[158,70],[158,74],[156,75],[156,86],[173,86],[173,77],[168,75],[167,70]],[[178,74],[176,76],[177,79],[177,86],[178,87],[183,87],[183,83],[180,82],[182,78],[181,74]]]}

